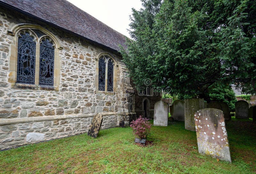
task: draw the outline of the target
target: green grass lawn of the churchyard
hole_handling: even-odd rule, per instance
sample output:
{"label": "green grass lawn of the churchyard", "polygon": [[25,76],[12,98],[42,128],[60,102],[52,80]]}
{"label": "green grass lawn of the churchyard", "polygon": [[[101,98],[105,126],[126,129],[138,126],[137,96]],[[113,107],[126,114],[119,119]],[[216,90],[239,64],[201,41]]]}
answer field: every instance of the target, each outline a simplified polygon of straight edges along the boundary
{"label": "green grass lawn of the churchyard", "polygon": [[1,174],[251,174],[256,172],[256,124],[227,122],[232,163],[198,154],[196,133],[184,122],[153,126],[151,147],[133,143],[131,128],[101,130],[0,152]]}

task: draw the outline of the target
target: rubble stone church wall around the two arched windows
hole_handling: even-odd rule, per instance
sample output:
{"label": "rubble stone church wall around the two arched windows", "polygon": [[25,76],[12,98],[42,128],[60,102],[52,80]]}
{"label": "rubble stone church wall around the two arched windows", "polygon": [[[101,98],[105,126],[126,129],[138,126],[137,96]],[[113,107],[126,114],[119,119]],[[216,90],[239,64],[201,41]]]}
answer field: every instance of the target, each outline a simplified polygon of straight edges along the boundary
{"label": "rubble stone church wall around the two arched windows", "polygon": [[[54,70],[60,71],[58,87],[17,86],[10,80],[10,55],[16,36],[7,33],[20,23],[40,25],[59,40],[63,47],[58,55],[60,69]],[[87,132],[95,113],[112,113],[104,116],[103,129],[115,127],[120,119],[130,120],[133,98],[127,97],[127,88],[131,85],[119,53],[3,7],[0,35],[0,149],[34,142],[27,140],[33,136],[50,140]],[[96,60],[100,53],[112,55],[117,62],[114,92],[97,91]],[[51,121],[41,121],[48,118]]]}

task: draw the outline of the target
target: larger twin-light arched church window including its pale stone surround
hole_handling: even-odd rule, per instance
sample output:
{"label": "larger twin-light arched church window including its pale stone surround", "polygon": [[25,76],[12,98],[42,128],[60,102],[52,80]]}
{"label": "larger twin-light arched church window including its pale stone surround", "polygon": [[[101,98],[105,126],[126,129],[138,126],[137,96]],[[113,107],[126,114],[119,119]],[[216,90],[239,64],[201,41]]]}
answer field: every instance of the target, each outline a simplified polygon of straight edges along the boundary
{"label": "larger twin-light arched church window including its pale stone surround", "polygon": [[62,47],[56,37],[32,24],[14,26],[8,34],[16,41],[11,45],[10,56],[9,82],[15,84],[13,87],[59,90]]}

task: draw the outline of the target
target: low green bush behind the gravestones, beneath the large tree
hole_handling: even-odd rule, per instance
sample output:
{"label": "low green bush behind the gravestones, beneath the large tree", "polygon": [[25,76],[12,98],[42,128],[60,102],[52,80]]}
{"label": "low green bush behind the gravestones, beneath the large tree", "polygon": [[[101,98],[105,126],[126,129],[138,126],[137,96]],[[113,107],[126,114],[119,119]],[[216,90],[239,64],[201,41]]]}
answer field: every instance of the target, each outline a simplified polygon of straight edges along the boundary
{"label": "low green bush behind the gravestones, beneath the large tree", "polygon": [[229,111],[235,111],[236,96],[230,86],[214,85],[209,88],[210,100],[214,102],[225,102],[228,104]]}

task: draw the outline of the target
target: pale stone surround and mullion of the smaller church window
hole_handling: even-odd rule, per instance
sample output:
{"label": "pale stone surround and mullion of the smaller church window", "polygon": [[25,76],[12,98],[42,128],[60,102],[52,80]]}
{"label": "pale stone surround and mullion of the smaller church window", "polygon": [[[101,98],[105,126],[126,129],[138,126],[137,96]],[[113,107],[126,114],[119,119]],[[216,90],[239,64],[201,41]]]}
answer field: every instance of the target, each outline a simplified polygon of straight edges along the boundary
{"label": "pale stone surround and mullion of the smaller church window", "polygon": [[[114,67],[113,67],[113,91],[107,91],[107,84],[108,84],[108,71],[105,72],[105,91],[99,91],[99,59],[101,56],[108,56],[109,58],[106,61],[106,70],[108,69],[108,60],[112,59],[114,62]],[[117,73],[117,67],[118,67],[118,63],[116,61],[116,59],[114,58],[113,55],[104,52],[104,53],[100,53],[97,58],[95,59],[96,61],[96,76],[95,76],[95,87],[96,87],[96,93],[104,93],[104,94],[109,94],[109,95],[113,95],[116,93],[116,89],[117,89],[117,80],[116,80],[116,73]]]}

